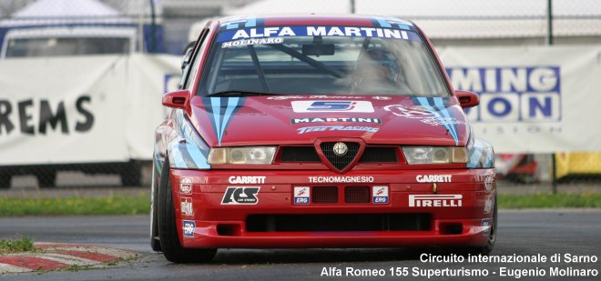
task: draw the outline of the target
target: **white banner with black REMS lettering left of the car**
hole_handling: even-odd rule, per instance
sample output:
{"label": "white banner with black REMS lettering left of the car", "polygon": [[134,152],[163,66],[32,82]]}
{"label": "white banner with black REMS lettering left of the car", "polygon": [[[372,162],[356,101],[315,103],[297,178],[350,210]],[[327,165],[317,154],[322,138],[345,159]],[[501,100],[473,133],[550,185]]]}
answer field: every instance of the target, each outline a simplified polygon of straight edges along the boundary
{"label": "white banner with black REMS lettering left of the car", "polygon": [[175,55],[0,60],[0,166],[149,160]]}

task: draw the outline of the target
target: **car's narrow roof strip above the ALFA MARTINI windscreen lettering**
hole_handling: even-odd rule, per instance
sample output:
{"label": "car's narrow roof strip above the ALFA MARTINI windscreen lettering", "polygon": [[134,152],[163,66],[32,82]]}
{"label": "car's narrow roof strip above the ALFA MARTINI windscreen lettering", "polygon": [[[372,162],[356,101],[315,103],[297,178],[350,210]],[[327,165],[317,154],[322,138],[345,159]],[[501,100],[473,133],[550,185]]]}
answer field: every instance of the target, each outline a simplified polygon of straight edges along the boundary
{"label": "car's narrow roof strip above the ALFA MARTINI windscreen lettering", "polygon": [[[261,25],[350,25],[402,28],[399,25],[404,25],[411,26],[411,29],[413,29],[414,26],[411,21],[392,16],[354,14],[231,15],[219,18],[218,22],[220,26],[247,23],[246,26],[239,25],[236,28]],[[249,26],[248,23],[252,23],[252,25]]]}

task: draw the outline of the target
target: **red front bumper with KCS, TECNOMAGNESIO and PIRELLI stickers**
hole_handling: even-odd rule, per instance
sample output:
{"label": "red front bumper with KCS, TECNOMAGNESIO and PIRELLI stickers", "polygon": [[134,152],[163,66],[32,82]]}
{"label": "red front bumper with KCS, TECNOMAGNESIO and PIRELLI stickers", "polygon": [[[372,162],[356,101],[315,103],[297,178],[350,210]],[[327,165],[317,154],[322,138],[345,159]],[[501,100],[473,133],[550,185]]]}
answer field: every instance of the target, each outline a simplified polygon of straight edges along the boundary
{"label": "red front bumper with KCS, TECNOMAGNESIO and PIRELLI stickers", "polygon": [[[171,169],[170,179],[184,247],[484,246],[493,225],[494,169]],[[320,187],[337,193],[318,200]]]}

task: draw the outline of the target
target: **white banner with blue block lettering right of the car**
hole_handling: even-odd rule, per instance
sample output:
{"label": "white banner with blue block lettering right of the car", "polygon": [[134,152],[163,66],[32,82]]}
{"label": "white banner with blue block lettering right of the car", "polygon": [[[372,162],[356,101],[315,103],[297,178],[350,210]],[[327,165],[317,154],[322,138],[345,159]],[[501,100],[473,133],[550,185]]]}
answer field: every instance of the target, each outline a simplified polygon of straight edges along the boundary
{"label": "white banner with blue block lettering right of the car", "polygon": [[601,46],[438,48],[466,110],[497,153],[601,151]]}

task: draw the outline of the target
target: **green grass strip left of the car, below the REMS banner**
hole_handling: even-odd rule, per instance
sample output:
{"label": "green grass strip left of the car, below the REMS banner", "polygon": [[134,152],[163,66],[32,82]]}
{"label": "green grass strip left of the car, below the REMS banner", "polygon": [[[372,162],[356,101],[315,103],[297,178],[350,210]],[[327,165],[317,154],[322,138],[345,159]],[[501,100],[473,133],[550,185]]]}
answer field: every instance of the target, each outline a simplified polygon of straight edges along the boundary
{"label": "green grass strip left of the car, below the REMS banner", "polygon": [[147,215],[149,210],[148,195],[0,198],[0,216]]}

